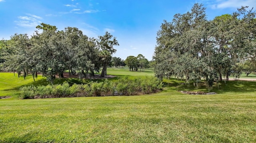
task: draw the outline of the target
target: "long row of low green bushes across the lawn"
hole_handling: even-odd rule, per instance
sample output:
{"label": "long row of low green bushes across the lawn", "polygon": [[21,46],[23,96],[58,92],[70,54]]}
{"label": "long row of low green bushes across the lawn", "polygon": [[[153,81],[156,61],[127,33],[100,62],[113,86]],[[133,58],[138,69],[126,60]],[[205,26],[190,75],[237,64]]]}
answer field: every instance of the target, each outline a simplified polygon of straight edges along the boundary
{"label": "long row of low green bushes across the lawn", "polygon": [[73,84],[68,82],[54,86],[24,86],[20,88],[20,98],[56,98],[78,96],[110,96],[149,94],[162,89],[162,81],[155,77],[128,76],[116,81],[89,82],[88,84]]}

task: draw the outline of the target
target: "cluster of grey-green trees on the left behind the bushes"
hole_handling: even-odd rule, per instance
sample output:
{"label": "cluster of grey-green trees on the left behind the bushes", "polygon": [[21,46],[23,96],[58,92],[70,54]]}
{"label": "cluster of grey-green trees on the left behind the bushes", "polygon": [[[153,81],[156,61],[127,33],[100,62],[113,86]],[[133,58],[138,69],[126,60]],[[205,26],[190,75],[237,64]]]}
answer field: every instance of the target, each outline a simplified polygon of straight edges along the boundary
{"label": "cluster of grey-green trees on the left behind the bushes", "polygon": [[66,70],[82,79],[87,73],[91,78],[102,67],[103,77],[116,52],[114,46],[119,45],[108,32],[95,39],[76,27],[57,31],[56,26],[42,23],[36,28],[42,33],[35,31],[31,38],[15,34],[10,40],[0,42],[0,68],[13,71],[14,75],[17,72],[18,76],[23,72],[24,78],[30,71],[34,80],[40,72],[51,84],[56,74],[61,78]]}

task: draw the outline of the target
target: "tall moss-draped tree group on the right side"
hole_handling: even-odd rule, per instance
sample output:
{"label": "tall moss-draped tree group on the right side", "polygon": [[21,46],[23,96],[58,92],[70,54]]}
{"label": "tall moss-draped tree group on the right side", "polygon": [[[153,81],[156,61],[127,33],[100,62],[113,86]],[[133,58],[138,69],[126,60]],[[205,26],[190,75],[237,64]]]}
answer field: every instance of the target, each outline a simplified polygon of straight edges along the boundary
{"label": "tall moss-draped tree group on the right side", "polygon": [[[233,14],[207,20],[206,8],[194,4],[190,12],[164,20],[157,32],[154,72],[158,78],[183,78],[196,85],[205,78],[238,79],[256,67],[256,12],[242,6]],[[240,63],[240,64],[238,64]]]}

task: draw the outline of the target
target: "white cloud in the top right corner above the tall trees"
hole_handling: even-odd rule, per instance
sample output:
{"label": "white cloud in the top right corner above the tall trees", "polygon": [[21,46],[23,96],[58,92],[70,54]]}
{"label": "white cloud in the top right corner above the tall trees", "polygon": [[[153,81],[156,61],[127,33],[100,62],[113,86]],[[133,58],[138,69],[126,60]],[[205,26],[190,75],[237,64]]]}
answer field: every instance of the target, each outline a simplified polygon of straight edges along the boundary
{"label": "white cloud in the top right corner above the tall trees", "polygon": [[256,6],[256,0],[204,0],[212,9],[240,8],[241,6]]}

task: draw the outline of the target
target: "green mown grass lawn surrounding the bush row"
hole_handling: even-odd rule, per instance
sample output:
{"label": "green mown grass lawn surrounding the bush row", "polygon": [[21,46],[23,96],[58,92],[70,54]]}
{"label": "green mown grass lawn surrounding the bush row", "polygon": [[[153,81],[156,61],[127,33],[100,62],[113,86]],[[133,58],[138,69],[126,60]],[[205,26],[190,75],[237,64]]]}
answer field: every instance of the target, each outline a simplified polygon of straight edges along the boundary
{"label": "green mown grass lawn surrounding the bush row", "polygon": [[0,99],[1,143],[256,142],[256,82],[221,83],[220,89],[214,86],[215,95],[181,94],[178,90],[207,88],[164,80],[164,91],[150,95],[14,100],[20,86],[48,82],[40,76],[36,82],[30,76],[15,77],[13,82],[10,78],[13,74],[0,73],[0,94],[14,96]]}

